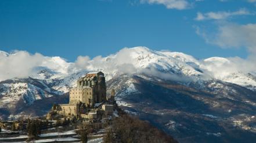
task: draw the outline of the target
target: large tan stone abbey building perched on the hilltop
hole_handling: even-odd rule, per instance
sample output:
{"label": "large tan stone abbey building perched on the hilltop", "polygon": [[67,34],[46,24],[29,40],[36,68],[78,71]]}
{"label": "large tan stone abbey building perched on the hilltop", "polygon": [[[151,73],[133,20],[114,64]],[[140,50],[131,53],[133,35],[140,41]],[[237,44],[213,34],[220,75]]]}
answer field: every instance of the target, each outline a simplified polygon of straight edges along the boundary
{"label": "large tan stone abbey building perched on the hilltop", "polygon": [[77,80],[75,88],[70,89],[69,103],[59,104],[53,111],[63,116],[95,119],[99,111],[113,111],[113,105],[108,103],[114,100],[113,92],[107,100],[104,73],[87,73]]}

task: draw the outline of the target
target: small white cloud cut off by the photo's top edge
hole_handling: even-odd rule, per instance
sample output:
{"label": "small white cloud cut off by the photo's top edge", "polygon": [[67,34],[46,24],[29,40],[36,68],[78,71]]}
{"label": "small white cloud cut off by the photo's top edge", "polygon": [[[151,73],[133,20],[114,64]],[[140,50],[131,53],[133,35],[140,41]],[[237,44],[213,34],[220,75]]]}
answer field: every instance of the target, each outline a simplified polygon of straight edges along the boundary
{"label": "small white cloud cut off by the photo's top edge", "polygon": [[191,5],[186,0],[140,0],[141,3],[164,5],[167,9],[188,9]]}

